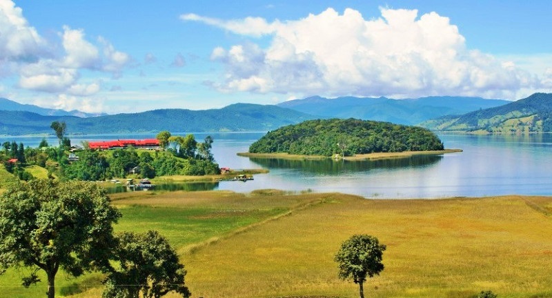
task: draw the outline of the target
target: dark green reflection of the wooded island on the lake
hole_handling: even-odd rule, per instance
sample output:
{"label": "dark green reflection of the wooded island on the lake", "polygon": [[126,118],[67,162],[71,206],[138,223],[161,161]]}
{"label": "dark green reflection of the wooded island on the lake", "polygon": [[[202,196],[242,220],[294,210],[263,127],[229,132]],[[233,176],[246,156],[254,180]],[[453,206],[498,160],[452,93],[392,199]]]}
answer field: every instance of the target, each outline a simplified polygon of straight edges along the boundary
{"label": "dark green reflection of the wooded island on the lake", "polygon": [[348,172],[367,172],[375,169],[419,168],[435,164],[442,155],[416,155],[401,159],[378,159],[375,161],[335,161],[333,159],[262,159],[250,157],[250,161],[269,169],[300,169],[317,175],[337,175]]}

